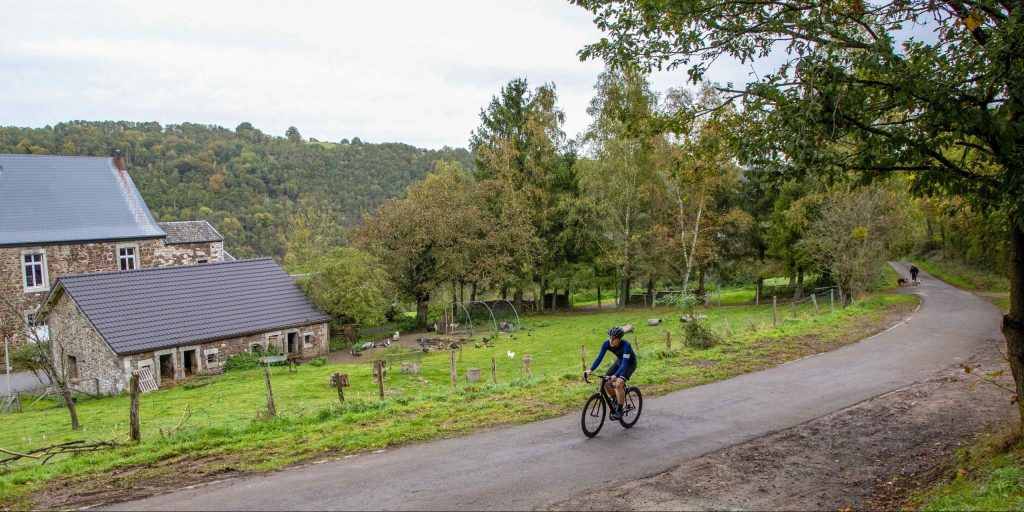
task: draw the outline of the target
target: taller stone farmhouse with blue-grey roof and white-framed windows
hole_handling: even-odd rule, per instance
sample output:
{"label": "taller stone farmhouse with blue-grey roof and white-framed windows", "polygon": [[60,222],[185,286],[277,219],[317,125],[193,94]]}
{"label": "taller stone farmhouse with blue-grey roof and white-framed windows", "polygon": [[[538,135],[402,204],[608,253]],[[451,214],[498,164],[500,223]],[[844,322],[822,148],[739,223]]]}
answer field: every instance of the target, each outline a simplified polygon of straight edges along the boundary
{"label": "taller stone farmhouse with blue-grey roof and white-framed windows", "polygon": [[0,350],[61,275],[227,259],[205,220],[156,222],[120,153],[0,155]]}

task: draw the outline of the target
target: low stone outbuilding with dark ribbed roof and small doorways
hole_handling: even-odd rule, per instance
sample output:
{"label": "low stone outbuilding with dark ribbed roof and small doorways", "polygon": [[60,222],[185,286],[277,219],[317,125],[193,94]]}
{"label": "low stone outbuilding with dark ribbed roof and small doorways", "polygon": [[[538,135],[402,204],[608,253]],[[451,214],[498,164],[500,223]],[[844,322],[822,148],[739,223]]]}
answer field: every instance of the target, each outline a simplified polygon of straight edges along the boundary
{"label": "low stone outbuilding with dark ribbed roof and small doorways", "polygon": [[92,393],[119,393],[143,368],[159,385],[244,351],[330,349],[328,316],[270,258],[66,275],[40,314],[59,340],[54,360]]}

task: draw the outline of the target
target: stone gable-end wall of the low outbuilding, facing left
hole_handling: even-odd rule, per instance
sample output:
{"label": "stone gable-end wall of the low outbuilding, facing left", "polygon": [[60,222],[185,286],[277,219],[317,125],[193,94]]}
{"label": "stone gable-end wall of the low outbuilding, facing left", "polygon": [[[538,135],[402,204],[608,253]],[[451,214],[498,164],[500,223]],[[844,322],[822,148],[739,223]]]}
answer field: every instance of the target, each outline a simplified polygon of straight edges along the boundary
{"label": "stone gable-end wall of the low outbuilding, facing left", "polygon": [[[63,294],[47,321],[50,327],[50,348],[60,372],[68,375],[72,388],[89,393],[116,394],[126,385],[119,358],[92,328],[71,296]],[[73,379],[69,357],[74,357],[78,378]]]}

